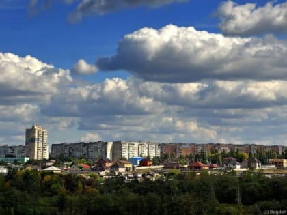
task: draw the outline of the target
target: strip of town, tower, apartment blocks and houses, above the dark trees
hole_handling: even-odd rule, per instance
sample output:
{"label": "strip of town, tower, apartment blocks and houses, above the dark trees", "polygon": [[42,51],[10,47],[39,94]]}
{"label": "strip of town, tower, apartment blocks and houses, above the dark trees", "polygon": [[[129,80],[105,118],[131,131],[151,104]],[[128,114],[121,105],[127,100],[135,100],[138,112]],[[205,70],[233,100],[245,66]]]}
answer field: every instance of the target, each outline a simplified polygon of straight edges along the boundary
{"label": "strip of town, tower, apartment blocks and houses, above the dark trees", "polygon": [[[161,169],[271,169],[287,167],[287,146],[232,143],[154,143],[143,141],[98,141],[52,144],[42,126],[26,129],[25,145],[1,145],[0,160],[24,164],[46,160],[59,171],[122,171],[140,167]],[[74,167],[68,160],[85,160]],[[47,165],[45,164],[44,167]],[[116,167],[116,168],[113,168]],[[120,169],[120,167],[123,167]],[[119,170],[120,169],[120,170]]]}

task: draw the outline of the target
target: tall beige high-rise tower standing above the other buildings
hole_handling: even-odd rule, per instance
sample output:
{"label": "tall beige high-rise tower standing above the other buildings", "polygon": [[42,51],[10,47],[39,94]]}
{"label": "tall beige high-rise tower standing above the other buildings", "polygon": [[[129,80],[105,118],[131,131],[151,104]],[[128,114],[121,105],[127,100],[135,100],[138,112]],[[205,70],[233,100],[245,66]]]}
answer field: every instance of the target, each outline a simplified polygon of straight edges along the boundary
{"label": "tall beige high-rise tower standing above the other buildings", "polygon": [[48,159],[47,130],[41,126],[33,125],[26,129],[26,156],[30,159]]}

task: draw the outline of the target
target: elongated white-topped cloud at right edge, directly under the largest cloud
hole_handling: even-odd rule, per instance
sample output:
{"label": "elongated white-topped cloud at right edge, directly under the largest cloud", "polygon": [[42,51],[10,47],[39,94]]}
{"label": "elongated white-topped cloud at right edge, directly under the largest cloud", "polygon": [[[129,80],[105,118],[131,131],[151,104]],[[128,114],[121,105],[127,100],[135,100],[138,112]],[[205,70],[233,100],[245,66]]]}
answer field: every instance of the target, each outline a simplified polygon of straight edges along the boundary
{"label": "elongated white-topped cloud at right edge, directly under the largest cloud", "polygon": [[259,108],[287,104],[286,81],[204,81],[138,85],[141,94],[193,109]]}

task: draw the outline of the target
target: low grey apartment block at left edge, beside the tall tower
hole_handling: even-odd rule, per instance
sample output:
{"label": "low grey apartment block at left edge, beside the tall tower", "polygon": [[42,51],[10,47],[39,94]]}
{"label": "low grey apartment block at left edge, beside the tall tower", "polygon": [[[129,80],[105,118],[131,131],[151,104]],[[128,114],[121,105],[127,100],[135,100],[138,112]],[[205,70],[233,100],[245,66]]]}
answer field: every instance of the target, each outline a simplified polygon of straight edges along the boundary
{"label": "low grey apartment block at left edge, beside the tall tower", "polygon": [[24,145],[1,145],[0,158],[25,158]]}

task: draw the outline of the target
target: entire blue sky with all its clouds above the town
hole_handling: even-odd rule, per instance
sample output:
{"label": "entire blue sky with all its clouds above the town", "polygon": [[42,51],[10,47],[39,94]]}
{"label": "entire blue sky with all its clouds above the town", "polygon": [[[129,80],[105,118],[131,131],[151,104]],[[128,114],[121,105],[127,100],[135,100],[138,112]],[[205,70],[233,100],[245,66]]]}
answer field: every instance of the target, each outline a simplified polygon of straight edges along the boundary
{"label": "entire blue sky with all its clouds above the town", "polygon": [[0,0],[0,145],[287,145],[287,1]]}

